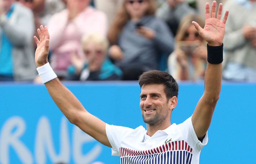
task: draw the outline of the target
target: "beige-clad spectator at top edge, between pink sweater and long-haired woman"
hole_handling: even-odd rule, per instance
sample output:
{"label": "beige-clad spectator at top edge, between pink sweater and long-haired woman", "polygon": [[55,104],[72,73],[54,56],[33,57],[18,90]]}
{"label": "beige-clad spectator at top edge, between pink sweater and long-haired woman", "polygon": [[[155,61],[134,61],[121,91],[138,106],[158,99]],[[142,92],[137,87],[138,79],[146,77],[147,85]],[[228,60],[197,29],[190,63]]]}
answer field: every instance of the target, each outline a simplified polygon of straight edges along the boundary
{"label": "beige-clad spectator at top edge, between pink sweater and long-haired woman", "polygon": [[[112,23],[117,8],[121,7],[124,0],[94,0],[95,7],[106,13],[108,17],[108,25]],[[109,27],[108,26],[108,27]]]}

